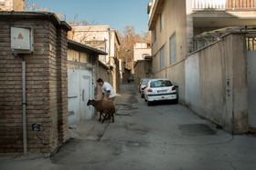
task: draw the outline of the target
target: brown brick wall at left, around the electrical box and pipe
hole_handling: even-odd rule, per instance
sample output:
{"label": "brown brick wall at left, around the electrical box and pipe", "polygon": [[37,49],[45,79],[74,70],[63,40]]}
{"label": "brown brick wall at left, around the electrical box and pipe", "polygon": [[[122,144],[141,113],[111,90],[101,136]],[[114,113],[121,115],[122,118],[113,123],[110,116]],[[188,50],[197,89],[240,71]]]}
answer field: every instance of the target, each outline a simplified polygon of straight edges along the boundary
{"label": "brown brick wall at left, around the electrical box and pipe", "polygon": [[[23,152],[22,56],[27,151],[50,153],[68,138],[67,30],[52,15],[0,13],[0,152]],[[10,25],[34,30],[32,55],[12,55]],[[37,124],[38,128],[34,128]]]}

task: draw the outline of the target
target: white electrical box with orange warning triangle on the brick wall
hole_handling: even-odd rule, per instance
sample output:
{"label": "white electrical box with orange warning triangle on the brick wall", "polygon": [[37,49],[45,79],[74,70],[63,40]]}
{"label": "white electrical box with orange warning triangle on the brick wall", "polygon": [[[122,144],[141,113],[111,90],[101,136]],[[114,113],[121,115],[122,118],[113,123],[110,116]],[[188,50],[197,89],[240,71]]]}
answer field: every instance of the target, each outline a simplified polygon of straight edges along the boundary
{"label": "white electrical box with orange warning triangle on the brick wall", "polygon": [[11,27],[11,48],[15,54],[31,54],[34,52],[33,30]]}

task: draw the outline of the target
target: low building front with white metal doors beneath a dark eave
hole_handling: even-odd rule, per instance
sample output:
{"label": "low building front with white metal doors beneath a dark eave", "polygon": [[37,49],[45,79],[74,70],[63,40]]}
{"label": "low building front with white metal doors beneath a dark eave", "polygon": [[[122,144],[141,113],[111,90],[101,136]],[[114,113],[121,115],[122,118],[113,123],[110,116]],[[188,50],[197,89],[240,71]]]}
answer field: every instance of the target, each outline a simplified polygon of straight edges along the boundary
{"label": "low building front with white metal doors beneath a dark eave", "polygon": [[97,95],[95,80],[101,73],[99,55],[107,54],[91,46],[68,41],[68,104],[71,126],[94,116],[94,107],[88,106],[87,102]]}

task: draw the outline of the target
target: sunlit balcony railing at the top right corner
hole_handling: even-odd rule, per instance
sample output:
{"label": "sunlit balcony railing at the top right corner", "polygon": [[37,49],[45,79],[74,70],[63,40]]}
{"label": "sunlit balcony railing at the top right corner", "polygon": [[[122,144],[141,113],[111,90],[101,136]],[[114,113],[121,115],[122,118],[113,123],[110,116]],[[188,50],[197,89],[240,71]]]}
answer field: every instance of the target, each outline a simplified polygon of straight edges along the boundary
{"label": "sunlit balcony railing at the top right corner", "polygon": [[192,0],[192,9],[250,9],[256,7],[256,0]]}

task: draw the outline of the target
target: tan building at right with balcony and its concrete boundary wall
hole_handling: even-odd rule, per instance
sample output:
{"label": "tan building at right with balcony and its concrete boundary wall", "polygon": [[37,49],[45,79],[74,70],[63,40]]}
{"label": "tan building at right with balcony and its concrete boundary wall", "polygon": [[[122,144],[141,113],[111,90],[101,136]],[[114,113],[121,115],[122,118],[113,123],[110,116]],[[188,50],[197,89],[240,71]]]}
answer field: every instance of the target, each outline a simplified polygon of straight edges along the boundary
{"label": "tan building at right with balcony and its concrete boundary wall", "polygon": [[[175,85],[178,85],[179,103],[189,106],[198,115],[223,126],[230,133],[247,132],[249,125],[246,118],[248,115],[246,52],[248,45],[254,43],[249,42],[249,35],[253,36],[253,31],[249,35],[245,33],[248,31],[248,27],[256,25],[254,1],[154,0],[148,4],[148,14],[149,30],[152,31],[154,77],[169,78]],[[234,35],[235,32],[239,32],[239,35]],[[227,42],[226,38],[231,41]],[[233,40],[235,39],[240,39],[240,43],[234,45]],[[219,43],[217,47],[215,44],[219,41],[225,43]],[[242,58],[240,66],[229,67],[228,63],[224,62],[226,60],[223,59],[219,64],[212,61],[211,66],[205,67],[202,62],[204,59],[214,57],[214,55],[219,55],[215,57],[224,57],[223,54],[216,52],[207,53],[209,46],[214,45],[218,52],[223,49],[223,52],[229,52],[227,56],[225,55],[229,58],[227,61],[235,61],[239,58],[235,55],[234,50],[236,49],[237,54],[240,54],[240,58]],[[198,55],[195,57],[195,54],[198,53],[204,53],[205,58],[198,57]],[[229,67],[232,70],[231,73],[243,74],[229,75],[230,70],[227,69],[219,69],[222,72],[213,74],[214,70],[219,68],[218,65],[227,69]],[[208,70],[209,68],[212,69]],[[218,78],[222,77],[222,79],[226,77],[225,81],[220,78],[222,81],[219,81],[218,85],[221,88],[212,86],[216,85],[216,82],[209,84],[213,81],[214,76],[210,77],[205,73],[211,73]],[[235,87],[231,92],[230,85]],[[240,92],[236,88],[240,88]],[[227,91],[234,96],[231,101],[229,101],[231,95],[227,94]],[[221,95],[215,96],[216,94]],[[238,95],[245,102],[240,102],[236,98]],[[195,103],[196,101],[197,103]],[[219,105],[225,106],[219,108]],[[235,105],[240,105],[240,107]],[[230,107],[232,109],[228,109]]]}

